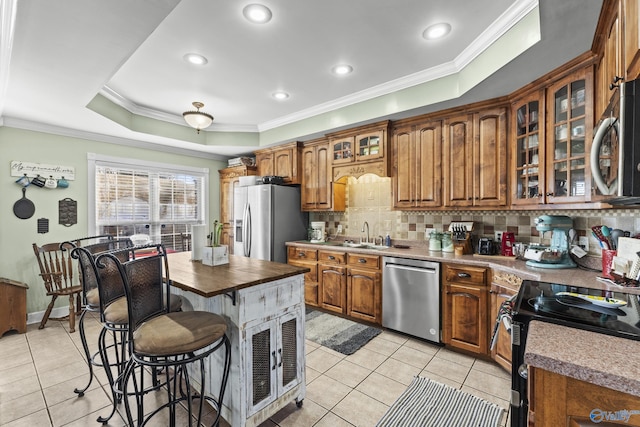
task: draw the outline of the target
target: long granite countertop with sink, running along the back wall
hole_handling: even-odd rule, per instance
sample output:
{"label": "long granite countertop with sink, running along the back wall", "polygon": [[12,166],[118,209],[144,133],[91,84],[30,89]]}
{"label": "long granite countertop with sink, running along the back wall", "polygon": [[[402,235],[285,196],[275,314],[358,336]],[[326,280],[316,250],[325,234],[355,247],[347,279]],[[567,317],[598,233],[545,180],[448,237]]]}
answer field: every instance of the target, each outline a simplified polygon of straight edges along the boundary
{"label": "long granite countertop with sink, running along the back wall", "polygon": [[[402,241],[400,244],[409,246],[408,249],[390,247],[387,249],[350,248],[339,246],[339,241],[328,243],[309,243],[308,241],[287,242],[288,246],[304,247],[325,251],[347,251],[377,254],[382,256],[395,256],[401,258],[420,259],[436,262],[452,262],[465,265],[479,265],[493,270],[514,274],[523,280],[537,280],[541,282],[561,283],[570,286],[580,286],[592,289],[604,289],[620,291],[632,294],[640,294],[640,288],[621,287],[596,279],[601,273],[587,271],[580,268],[545,269],[529,267],[526,261],[502,257],[499,255],[455,255],[447,252],[432,252],[428,250],[426,242]],[[394,242],[395,243],[395,242]]]}

